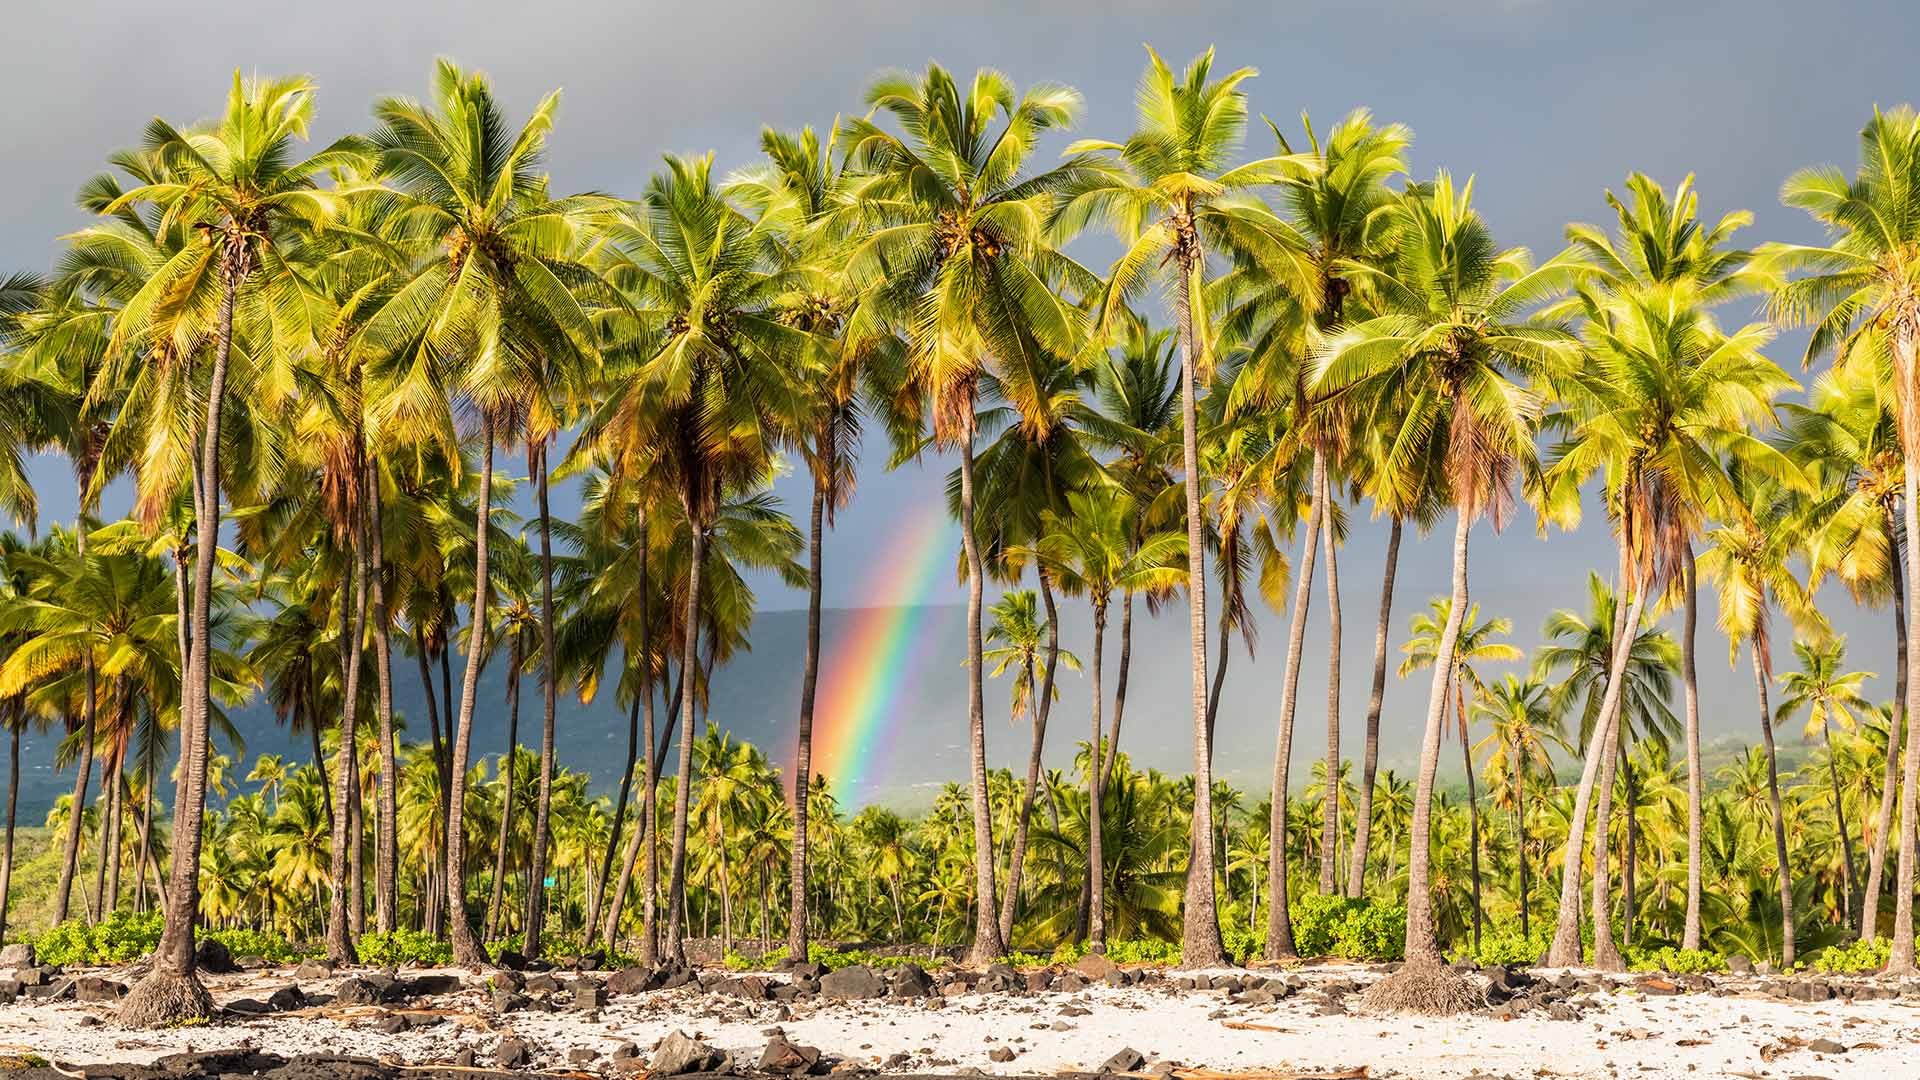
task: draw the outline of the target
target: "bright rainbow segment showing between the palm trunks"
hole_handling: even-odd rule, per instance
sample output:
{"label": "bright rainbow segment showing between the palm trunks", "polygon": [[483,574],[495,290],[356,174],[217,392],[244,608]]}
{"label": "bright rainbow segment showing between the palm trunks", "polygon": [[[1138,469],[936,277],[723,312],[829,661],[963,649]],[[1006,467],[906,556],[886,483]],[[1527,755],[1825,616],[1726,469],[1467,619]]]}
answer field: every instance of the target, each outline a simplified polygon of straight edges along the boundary
{"label": "bright rainbow segment showing between the palm trunks", "polygon": [[937,648],[927,632],[941,575],[952,573],[954,538],[947,517],[924,513],[887,546],[879,573],[847,615],[851,626],[828,646],[814,705],[814,773],[841,799],[874,780]]}

